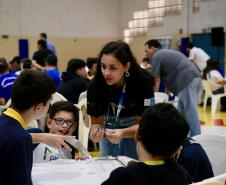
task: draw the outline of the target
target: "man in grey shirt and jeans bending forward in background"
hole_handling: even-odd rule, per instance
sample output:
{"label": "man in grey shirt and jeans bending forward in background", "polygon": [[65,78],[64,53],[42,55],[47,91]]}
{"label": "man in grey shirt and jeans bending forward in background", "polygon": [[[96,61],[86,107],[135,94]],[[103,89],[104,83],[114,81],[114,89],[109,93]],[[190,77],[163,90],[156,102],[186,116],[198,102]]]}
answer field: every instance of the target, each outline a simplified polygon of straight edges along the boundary
{"label": "man in grey shirt and jeans bending forward in background", "polygon": [[185,116],[190,136],[201,133],[197,112],[198,94],[201,89],[201,74],[182,53],[172,49],[161,49],[158,40],[145,43],[145,52],[151,58],[152,74],[155,77],[155,90],[160,79],[178,97],[178,110]]}

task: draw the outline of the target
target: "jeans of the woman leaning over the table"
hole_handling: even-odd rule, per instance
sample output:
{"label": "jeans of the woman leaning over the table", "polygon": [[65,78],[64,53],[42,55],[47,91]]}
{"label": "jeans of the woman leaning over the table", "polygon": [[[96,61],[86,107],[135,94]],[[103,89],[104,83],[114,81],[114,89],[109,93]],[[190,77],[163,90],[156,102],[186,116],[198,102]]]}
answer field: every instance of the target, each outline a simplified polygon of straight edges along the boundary
{"label": "jeans of the woman leaning over the table", "polygon": [[103,138],[100,142],[101,156],[127,156],[133,159],[138,159],[136,152],[136,141],[134,138],[121,139],[120,144],[112,144],[107,138]]}

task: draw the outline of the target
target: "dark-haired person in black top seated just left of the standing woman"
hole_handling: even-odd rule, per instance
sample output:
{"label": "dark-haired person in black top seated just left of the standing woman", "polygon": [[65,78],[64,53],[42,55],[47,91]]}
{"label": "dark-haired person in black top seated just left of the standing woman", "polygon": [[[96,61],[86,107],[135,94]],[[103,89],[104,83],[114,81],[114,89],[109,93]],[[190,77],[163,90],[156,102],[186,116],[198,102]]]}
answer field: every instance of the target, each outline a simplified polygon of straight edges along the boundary
{"label": "dark-haired person in black top seated just left of the standing woman", "polygon": [[67,100],[77,104],[79,95],[87,90],[86,63],[82,59],[72,58],[69,60],[66,72],[62,73],[62,82],[57,92]]}

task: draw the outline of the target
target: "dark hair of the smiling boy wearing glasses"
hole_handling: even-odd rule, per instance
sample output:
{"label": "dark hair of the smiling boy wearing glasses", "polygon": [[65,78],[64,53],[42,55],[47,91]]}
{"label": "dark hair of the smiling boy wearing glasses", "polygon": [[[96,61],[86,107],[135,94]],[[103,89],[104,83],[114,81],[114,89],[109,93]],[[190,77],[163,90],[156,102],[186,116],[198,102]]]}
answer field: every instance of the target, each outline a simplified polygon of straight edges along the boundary
{"label": "dark hair of the smiling boy wearing glasses", "polygon": [[70,101],[58,101],[51,105],[49,109],[49,117],[54,118],[55,114],[60,111],[70,112],[73,114],[73,119],[77,123],[79,110],[78,108]]}

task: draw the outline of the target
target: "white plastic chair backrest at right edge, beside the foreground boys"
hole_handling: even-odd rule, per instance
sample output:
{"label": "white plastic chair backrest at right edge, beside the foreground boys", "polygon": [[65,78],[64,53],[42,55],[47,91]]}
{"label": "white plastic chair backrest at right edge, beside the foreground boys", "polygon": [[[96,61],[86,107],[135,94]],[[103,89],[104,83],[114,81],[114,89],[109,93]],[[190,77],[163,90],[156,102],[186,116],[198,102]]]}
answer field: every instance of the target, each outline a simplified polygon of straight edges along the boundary
{"label": "white plastic chair backrest at right edge, beside the foreground boys", "polygon": [[226,172],[226,135],[201,134],[193,137],[205,150],[214,175]]}

